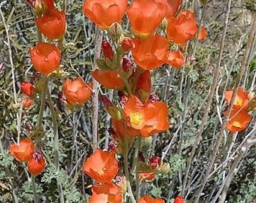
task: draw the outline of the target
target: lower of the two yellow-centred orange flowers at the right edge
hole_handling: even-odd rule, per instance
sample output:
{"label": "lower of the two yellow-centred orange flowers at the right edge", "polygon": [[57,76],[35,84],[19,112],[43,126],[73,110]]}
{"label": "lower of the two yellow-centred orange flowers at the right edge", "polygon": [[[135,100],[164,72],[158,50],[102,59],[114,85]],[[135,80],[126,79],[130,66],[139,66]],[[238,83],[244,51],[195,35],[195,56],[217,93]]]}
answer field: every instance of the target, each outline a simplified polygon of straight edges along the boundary
{"label": "lower of the two yellow-centred orange flowers at the right edge", "polygon": [[[224,112],[224,116],[227,114],[227,111]],[[233,109],[230,113],[229,122],[227,122],[226,128],[230,132],[240,132],[248,126],[251,121],[251,115],[246,111],[238,111]]]}

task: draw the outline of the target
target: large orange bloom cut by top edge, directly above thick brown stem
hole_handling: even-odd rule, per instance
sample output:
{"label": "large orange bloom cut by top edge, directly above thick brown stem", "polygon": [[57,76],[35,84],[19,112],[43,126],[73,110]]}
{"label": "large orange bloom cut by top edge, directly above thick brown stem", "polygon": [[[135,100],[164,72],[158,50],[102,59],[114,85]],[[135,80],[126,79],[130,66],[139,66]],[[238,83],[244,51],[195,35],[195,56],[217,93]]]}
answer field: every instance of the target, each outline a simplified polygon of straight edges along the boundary
{"label": "large orange bloom cut by top edge, directly above thick brown stem", "polygon": [[119,23],[126,12],[128,0],[86,0],[84,15],[99,28],[106,29],[112,23]]}

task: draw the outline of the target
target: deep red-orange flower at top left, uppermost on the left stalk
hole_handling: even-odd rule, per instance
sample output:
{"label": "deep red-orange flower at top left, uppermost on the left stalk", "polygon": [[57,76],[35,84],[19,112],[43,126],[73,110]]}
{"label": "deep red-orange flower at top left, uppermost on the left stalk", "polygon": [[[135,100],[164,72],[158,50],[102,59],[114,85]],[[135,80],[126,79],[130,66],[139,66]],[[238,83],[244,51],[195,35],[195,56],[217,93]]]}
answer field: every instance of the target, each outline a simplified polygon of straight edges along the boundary
{"label": "deep red-orange flower at top left, uppermost on the left stalk", "polygon": [[40,32],[47,38],[61,38],[66,29],[66,15],[64,11],[50,8],[47,14],[36,18],[35,23]]}

